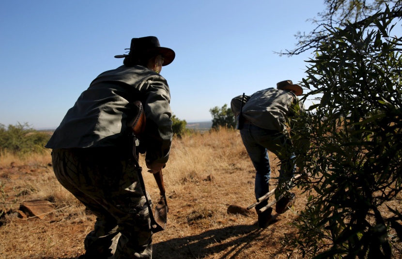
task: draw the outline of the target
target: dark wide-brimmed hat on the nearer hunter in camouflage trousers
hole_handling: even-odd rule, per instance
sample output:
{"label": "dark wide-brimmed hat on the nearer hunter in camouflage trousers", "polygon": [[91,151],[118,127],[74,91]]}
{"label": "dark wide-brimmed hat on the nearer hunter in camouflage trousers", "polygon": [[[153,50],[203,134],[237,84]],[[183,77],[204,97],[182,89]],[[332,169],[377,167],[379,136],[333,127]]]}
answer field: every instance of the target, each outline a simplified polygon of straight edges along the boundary
{"label": "dark wide-brimmed hat on the nearer hunter in camouflage trousers", "polygon": [[128,54],[116,55],[114,57],[125,58],[128,56],[142,56],[148,53],[159,54],[164,58],[162,66],[167,66],[173,61],[174,57],[176,56],[172,49],[161,47],[158,38],[156,38],[155,36],[131,39],[129,50],[130,51],[128,52]]}

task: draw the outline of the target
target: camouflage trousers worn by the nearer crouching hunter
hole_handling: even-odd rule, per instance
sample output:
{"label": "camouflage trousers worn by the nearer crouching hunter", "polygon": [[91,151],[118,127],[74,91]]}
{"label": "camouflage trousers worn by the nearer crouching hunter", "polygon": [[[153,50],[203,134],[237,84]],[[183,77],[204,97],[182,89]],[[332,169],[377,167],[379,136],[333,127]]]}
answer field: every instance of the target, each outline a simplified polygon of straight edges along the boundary
{"label": "camouflage trousers worn by the nearer crouching hunter", "polygon": [[130,159],[112,148],[57,149],[52,163],[62,186],[97,217],[85,258],[152,258],[149,212]]}

